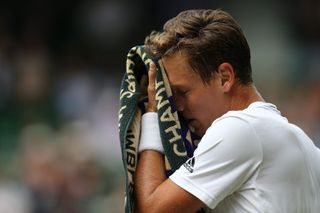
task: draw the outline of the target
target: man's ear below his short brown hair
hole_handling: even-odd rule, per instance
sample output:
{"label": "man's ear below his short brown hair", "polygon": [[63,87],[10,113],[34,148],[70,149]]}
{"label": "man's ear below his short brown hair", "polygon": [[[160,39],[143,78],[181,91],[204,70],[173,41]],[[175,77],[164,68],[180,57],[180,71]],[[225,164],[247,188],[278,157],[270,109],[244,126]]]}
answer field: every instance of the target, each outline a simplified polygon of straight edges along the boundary
{"label": "man's ear below his short brown hair", "polygon": [[229,92],[235,82],[235,70],[230,63],[222,63],[218,67],[218,77],[224,92]]}

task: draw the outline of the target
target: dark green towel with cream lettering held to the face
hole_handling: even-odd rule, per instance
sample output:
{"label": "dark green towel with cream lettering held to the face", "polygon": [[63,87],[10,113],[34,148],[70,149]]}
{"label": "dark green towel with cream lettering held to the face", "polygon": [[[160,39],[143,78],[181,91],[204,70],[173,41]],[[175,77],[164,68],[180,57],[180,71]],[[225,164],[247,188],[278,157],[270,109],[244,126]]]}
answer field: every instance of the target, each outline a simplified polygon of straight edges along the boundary
{"label": "dark green towel with cream lettering held to the face", "polygon": [[178,114],[161,60],[152,59],[144,46],[133,47],[127,55],[126,72],[120,88],[119,137],[125,170],[125,212],[134,212],[134,177],[138,162],[141,115],[148,103],[148,70],[156,65],[156,102],[160,136],[169,177],[193,156],[199,137]]}

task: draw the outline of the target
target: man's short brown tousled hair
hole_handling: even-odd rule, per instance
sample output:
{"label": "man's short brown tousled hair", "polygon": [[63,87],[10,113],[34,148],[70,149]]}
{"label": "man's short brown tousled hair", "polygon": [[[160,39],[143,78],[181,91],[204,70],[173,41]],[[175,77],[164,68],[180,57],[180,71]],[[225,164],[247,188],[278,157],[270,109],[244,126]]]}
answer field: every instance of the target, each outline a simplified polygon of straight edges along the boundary
{"label": "man's short brown tousled hair", "polygon": [[183,11],[168,20],[163,31],[151,32],[145,46],[156,58],[185,53],[190,67],[204,83],[209,83],[223,62],[233,66],[240,83],[252,82],[248,42],[240,25],[220,9]]}

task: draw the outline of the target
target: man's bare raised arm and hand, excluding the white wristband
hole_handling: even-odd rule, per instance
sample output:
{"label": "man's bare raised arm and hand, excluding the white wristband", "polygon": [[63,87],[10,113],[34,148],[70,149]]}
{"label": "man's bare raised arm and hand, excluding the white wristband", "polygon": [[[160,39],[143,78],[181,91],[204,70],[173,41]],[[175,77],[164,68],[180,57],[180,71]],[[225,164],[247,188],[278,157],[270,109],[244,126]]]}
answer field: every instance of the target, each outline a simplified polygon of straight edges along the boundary
{"label": "man's bare raised arm and hand, excluding the white wristband", "polygon": [[[148,111],[156,111],[155,65],[150,66]],[[157,151],[145,150],[139,155],[135,176],[137,212],[190,212],[199,210],[203,203],[166,178],[164,156]]]}

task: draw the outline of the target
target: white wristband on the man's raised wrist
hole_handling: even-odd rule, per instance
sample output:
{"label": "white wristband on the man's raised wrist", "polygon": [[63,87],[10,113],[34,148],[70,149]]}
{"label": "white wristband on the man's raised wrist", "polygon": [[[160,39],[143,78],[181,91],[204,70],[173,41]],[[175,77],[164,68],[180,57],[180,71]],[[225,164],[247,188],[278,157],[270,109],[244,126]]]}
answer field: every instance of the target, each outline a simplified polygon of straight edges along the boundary
{"label": "white wristband on the man's raised wrist", "polygon": [[142,115],[139,153],[144,150],[164,153],[160,137],[158,114],[156,112],[147,112]]}

